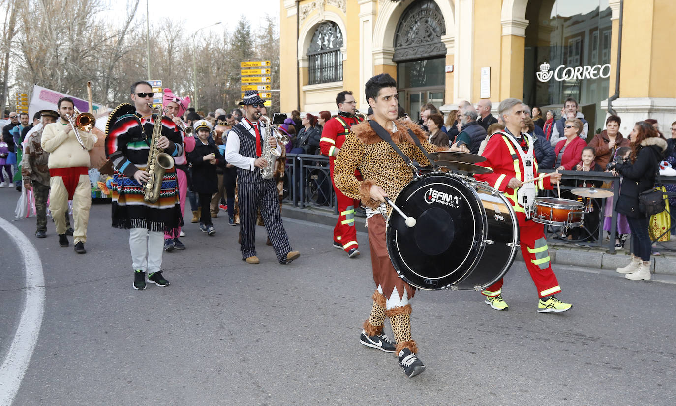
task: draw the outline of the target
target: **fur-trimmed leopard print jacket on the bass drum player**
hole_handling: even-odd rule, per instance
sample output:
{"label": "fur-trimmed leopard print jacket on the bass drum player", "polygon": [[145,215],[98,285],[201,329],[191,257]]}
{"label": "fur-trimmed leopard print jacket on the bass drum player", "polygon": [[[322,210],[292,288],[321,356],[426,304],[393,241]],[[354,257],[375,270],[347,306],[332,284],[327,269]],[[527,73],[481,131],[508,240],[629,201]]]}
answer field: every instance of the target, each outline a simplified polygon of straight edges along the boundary
{"label": "fur-trimmed leopard print jacket on the bass drum player", "polygon": [[[397,121],[395,125],[397,131],[391,133],[392,141],[408,158],[427,166],[427,158],[413,142],[408,129],[420,139],[420,144],[427,152],[437,152],[439,148],[429,143],[423,129],[412,122]],[[362,173],[363,181],[354,176],[356,169]],[[361,199],[366,207],[377,208],[380,202],[370,196],[372,185],[382,187],[389,198],[394,200],[412,179],[411,168],[387,141],[378,137],[368,122],[352,126],[333,168],[335,185],[345,196]],[[389,210],[391,208],[388,207],[388,215]]]}

